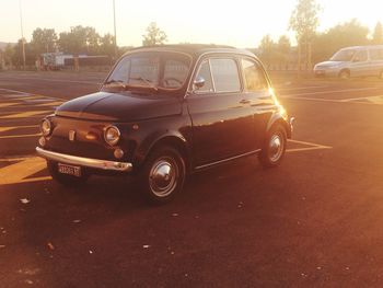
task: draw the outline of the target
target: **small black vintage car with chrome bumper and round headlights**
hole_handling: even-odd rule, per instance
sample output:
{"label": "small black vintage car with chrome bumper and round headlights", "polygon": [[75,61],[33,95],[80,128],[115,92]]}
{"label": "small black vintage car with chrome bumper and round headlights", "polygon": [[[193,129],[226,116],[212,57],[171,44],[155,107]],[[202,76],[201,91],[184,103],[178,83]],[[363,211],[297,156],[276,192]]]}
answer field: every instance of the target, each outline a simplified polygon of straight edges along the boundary
{"label": "small black vintage car with chrome bumper and round headlights", "polygon": [[249,51],[166,45],[124,55],[100,92],[62,104],[40,129],[36,150],[54,180],[132,174],[161,203],[201,169],[252,154],[277,166],[292,119]]}

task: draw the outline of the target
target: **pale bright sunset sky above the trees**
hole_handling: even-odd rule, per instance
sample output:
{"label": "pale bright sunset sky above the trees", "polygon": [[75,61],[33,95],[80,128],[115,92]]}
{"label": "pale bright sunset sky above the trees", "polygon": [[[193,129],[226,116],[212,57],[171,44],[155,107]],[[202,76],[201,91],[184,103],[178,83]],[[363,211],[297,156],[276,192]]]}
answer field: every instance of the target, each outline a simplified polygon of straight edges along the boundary
{"label": "pale bright sunset sky above the trees", "polygon": [[[113,33],[113,0],[0,0],[0,42],[15,43],[23,33],[30,41],[36,27],[93,26],[100,34]],[[140,46],[150,22],[167,34],[169,43],[214,43],[241,48],[258,46],[269,34],[274,39],[293,33],[288,23],[297,0],[115,0],[117,44]],[[318,31],[357,18],[373,30],[383,23],[381,0],[317,0]]]}

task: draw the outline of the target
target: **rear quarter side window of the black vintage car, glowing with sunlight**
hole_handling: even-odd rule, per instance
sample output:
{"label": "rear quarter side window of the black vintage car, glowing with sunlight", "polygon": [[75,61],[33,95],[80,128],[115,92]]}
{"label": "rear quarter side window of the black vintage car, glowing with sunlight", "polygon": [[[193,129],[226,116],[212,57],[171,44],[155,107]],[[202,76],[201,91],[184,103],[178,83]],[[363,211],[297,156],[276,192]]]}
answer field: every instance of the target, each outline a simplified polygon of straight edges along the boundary
{"label": "rear quarter side window of the black vintage car, glowing with sunlight", "polygon": [[245,91],[257,92],[268,89],[265,74],[255,61],[242,59],[242,70],[245,83]]}

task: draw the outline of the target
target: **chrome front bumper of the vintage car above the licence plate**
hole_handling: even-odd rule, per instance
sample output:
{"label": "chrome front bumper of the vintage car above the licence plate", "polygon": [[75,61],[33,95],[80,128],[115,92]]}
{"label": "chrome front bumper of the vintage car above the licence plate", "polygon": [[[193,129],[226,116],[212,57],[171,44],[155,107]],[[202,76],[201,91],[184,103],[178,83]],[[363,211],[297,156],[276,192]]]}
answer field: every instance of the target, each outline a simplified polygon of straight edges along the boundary
{"label": "chrome front bumper of the vintage car above the licence plate", "polygon": [[62,162],[72,165],[94,168],[108,171],[120,171],[120,172],[130,172],[132,170],[132,164],[128,162],[115,162],[108,160],[98,160],[92,158],[83,158],[77,155],[68,155],[62,153],[57,153],[48,150],[44,150],[39,147],[36,147],[37,153],[48,160]]}

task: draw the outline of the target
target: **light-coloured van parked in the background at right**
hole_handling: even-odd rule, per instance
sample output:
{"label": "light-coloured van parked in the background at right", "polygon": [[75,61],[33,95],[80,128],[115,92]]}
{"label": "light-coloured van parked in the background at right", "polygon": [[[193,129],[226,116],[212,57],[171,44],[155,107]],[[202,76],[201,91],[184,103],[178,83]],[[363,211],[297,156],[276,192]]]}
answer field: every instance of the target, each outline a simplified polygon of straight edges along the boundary
{"label": "light-coloured van parked in the background at right", "polygon": [[314,73],[340,79],[369,76],[383,79],[383,45],[343,48],[329,61],[315,65]]}

